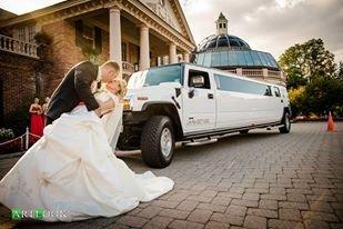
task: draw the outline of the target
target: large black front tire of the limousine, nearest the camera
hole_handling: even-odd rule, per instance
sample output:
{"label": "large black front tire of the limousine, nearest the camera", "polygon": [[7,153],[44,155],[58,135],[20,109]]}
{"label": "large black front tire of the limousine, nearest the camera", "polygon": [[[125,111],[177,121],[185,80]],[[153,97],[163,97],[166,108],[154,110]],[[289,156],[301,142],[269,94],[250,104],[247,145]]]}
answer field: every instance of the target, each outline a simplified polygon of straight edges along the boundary
{"label": "large black front tire of the limousine, nearest the camera", "polygon": [[[171,133],[171,149],[168,156],[162,152],[163,149],[161,147],[163,131],[170,131]],[[169,133],[167,133],[167,136],[169,136]],[[141,136],[143,161],[152,168],[165,168],[173,159],[174,148],[175,139],[171,119],[165,116],[154,116],[149,119],[143,127]]]}

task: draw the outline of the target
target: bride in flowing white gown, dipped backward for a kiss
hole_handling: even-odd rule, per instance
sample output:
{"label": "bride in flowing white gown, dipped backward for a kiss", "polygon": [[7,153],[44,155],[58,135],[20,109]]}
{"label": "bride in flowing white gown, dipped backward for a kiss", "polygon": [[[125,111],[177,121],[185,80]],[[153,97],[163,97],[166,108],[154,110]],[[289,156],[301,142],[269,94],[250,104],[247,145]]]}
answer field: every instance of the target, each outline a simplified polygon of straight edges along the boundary
{"label": "bride in flowing white gown, dipped backward for a kiss", "polygon": [[173,181],[151,171],[135,175],[118,159],[115,149],[125,83],[114,80],[95,94],[113,100],[99,119],[79,104],[46,127],[33,145],[0,181],[0,202],[44,221],[114,217],[170,191]]}

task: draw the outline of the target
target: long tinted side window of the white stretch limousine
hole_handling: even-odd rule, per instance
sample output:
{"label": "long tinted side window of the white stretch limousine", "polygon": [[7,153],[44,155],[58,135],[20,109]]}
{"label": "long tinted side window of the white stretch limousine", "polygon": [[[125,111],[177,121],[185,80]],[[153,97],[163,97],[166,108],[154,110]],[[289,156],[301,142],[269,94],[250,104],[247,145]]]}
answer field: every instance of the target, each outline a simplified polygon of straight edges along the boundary
{"label": "long tinted side window of the white stretch limousine", "polygon": [[253,93],[260,96],[272,97],[272,90],[270,86],[252,82],[248,80],[241,80],[233,77],[214,74],[216,88],[223,91],[233,91],[241,93]]}

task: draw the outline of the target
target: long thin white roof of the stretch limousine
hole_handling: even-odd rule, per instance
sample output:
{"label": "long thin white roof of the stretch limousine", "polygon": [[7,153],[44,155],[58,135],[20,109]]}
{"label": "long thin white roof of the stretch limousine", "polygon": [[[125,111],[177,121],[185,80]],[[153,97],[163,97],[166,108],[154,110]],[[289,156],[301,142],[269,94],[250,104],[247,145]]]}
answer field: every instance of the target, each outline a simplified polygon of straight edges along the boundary
{"label": "long thin white roof of the stretch limousine", "polygon": [[225,77],[234,77],[234,78],[251,81],[251,82],[259,82],[259,83],[263,83],[263,84],[268,84],[268,86],[275,86],[275,87],[285,88],[284,86],[281,86],[281,84],[254,80],[254,79],[251,79],[251,78],[248,78],[248,77],[242,77],[242,76],[239,76],[239,74],[235,74],[235,73],[232,73],[232,72],[223,71],[223,70],[215,69],[215,68],[204,67],[204,66],[200,66],[200,64],[195,64],[195,63],[190,63],[190,62],[170,63],[170,64],[165,64],[165,66],[151,67],[149,69],[159,69],[159,68],[165,68],[165,67],[170,67],[170,66],[194,66],[196,68],[202,68],[202,69],[214,71],[215,73],[220,73],[220,74],[223,74]]}

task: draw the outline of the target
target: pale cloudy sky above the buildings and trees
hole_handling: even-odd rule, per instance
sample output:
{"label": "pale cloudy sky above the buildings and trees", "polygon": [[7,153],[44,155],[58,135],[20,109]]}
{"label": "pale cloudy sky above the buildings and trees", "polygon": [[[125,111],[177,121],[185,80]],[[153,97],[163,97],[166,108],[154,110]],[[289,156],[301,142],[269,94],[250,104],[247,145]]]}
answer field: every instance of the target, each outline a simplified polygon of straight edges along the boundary
{"label": "pale cloudy sky above the buildings and trees", "polygon": [[[21,14],[62,0],[0,0],[0,8]],[[343,61],[343,0],[180,0],[196,44],[215,33],[220,12],[229,33],[276,59],[295,43],[322,38]]]}

